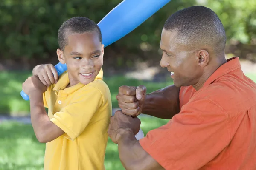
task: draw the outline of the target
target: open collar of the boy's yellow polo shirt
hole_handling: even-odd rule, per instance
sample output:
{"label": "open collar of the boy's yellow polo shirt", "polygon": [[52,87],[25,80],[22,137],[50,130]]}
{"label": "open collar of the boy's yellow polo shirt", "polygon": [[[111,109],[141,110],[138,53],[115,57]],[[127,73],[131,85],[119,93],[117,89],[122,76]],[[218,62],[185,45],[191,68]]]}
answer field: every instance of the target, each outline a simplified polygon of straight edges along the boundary
{"label": "open collar of the boy's yellow polo shirt", "polygon": [[[103,79],[103,71],[102,69],[100,70],[99,74],[96,76],[95,79]],[[55,91],[55,94],[58,95],[58,92],[60,90],[63,90],[64,92],[66,92],[68,95],[72,94],[73,92],[77,91],[79,88],[84,87],[84,84],[82,83],[78,83],[76,85],[73,85],[71,87],[67,87],[67,85],[69,84],[69,78],[68,78],[68,73],[67,71],[65,71],[61,77],[59,78],[58,82],[55,84],[53,91]]]}

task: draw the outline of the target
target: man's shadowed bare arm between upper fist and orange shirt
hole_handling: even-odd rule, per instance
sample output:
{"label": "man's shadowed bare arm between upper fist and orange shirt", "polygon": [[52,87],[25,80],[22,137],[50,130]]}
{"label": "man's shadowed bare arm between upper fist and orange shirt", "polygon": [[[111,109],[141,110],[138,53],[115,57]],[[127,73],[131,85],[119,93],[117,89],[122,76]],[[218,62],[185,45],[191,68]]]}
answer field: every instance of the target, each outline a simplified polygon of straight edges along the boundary
{"label": "man's shadowed bare arm between upper fist and orange shirt", "polygon": [[180,112],[179,93],[180,88],[170,85],[147,94],[142,113],[162,119],[172,119]]}

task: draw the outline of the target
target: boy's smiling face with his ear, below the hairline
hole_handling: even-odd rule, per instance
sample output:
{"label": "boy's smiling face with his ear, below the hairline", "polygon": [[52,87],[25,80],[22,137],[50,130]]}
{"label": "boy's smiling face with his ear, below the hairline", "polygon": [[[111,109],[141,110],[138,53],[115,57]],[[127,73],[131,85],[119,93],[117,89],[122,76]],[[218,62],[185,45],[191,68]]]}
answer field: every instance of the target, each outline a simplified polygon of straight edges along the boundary
{"label": "boy's smiling face with his ear, below the hairline", "polygon": [[67,40],[64,52],[58,49],[57,54],[59,61],[67,64],[70,86],[93,82],[103,65],[104,45],[99,34],[67,34]]}

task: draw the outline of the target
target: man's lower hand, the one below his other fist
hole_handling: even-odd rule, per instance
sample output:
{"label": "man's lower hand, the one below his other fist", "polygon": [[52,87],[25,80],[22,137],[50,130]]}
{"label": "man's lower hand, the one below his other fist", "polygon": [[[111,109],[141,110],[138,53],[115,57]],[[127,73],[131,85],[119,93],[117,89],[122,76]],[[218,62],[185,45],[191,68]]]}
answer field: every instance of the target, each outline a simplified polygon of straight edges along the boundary
{"label": "man's lower hand, the one below his other fist", "polygon": [[137,134],[140,130],[140,119],[127,116],[122,111],[116,111],[115,115],[111,117],[108,127],[108,136],[114,143],[118,143],[122,133],[126,131]]}

